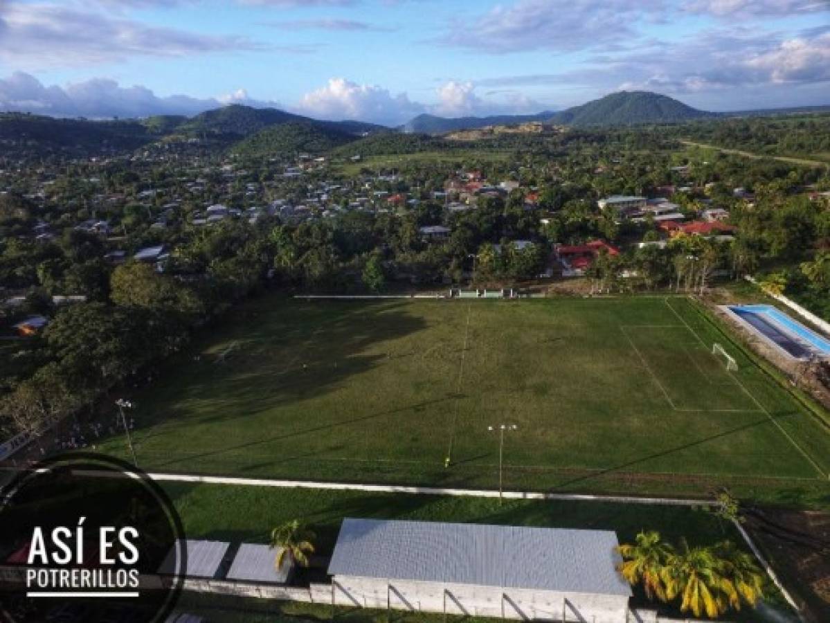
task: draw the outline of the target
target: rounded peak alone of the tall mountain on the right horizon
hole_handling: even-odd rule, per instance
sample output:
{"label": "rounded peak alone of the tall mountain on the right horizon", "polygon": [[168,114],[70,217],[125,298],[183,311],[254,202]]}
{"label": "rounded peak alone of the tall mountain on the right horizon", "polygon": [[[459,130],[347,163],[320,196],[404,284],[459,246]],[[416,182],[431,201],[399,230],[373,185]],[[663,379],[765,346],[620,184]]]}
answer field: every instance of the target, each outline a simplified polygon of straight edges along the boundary
{"label": "rounded peak alone of the tall mountain on the right horizon", "polygon": [[620,91],[599,100],[554,114],[550,121],[563,125],[659,124],[714,117],[666,95],[649,91]]}

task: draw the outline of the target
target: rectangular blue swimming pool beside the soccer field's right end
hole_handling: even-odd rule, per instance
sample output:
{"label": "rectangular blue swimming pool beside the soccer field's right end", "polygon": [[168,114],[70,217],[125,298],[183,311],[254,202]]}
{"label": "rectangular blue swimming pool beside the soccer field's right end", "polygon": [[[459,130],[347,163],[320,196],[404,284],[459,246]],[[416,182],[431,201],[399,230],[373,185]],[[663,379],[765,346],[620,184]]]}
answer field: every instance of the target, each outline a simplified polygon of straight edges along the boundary
{"label": "rectangular blue swimming pool beside the soccer field's right end", "polygon": [[830,340],[772,305],[731,305],[733,314],[795,358],[830,357]]}

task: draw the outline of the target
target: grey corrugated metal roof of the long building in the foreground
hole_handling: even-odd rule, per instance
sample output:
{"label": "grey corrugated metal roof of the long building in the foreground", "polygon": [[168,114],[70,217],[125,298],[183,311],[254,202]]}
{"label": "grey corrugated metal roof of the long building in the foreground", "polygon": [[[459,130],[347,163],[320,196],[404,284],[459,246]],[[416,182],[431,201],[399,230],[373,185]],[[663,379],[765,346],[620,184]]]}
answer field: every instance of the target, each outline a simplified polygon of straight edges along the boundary
{"label": "grey corrugated metal roof of the long building in the foreground", "polygon": [[345,519],[329,573],[628,596],[617,545],[606,530]]}

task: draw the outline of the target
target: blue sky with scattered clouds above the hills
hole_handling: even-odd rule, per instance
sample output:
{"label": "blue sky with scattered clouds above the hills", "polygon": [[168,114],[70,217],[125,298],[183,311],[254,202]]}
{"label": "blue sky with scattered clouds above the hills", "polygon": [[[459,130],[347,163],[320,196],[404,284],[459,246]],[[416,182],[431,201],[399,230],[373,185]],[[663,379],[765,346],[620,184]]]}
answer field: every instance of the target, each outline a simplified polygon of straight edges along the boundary
{"label": "blue sky with scattered clouds above the hills", "polygon": [[402,124],[652,90],[830,104],[830,0],[0,0],[0,110]]}

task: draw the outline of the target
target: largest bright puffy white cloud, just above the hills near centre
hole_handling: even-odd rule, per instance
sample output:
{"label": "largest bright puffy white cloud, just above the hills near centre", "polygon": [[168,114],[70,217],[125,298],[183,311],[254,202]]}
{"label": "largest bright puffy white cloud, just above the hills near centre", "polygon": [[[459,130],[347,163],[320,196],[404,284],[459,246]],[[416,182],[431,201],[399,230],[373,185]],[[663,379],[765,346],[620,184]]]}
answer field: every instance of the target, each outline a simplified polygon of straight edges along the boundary
{"label": "largest bright puffy white cloud, just above the hills near centre", "polygon": [[332,78],[324,87],[303,95],[297,110],[321,119],[357,119],[380,124],[400,124],[422,113],[422,105],[408,95],[392,95],[377,85],[358,85]]}

